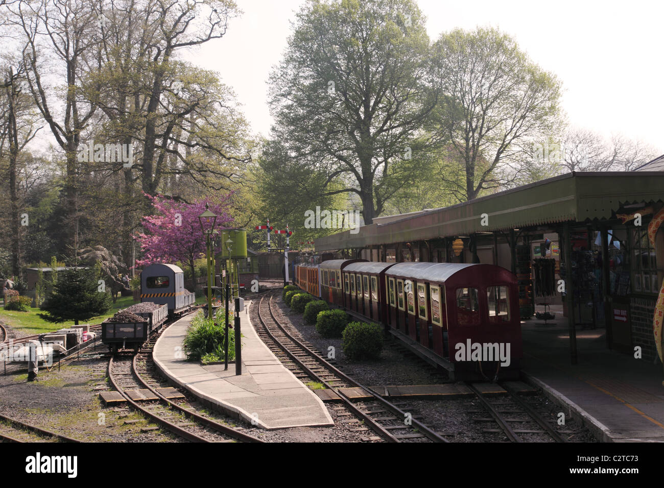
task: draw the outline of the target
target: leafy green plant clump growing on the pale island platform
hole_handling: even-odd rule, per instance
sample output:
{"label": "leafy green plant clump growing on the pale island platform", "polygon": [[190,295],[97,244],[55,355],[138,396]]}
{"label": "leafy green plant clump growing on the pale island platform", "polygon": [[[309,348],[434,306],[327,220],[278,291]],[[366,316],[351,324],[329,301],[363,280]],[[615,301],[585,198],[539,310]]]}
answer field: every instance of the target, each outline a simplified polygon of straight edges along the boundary
{"label": "leafy green plant clump growing on the pale island platform", "polygon": [[[211,319],[199,313],[191,321],[183,343],[189,361],[205,359],[209,361],[224,360],[224,322],[220,319],[214,325]],[[214,359],[216,358],[216,359]],[[228,329],[228,361],[235,359],[235,331]]]}

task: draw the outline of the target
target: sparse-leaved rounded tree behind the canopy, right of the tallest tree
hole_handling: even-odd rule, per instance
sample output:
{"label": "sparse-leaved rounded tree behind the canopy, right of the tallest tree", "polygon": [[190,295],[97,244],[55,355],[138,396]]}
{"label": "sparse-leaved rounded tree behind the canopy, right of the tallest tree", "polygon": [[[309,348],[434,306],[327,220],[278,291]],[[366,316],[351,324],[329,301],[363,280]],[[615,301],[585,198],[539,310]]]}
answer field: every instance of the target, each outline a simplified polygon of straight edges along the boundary
{"label": "sparse-leaved rounded tree behind the canopy, right of the tallest tree", "polygon": [[[509,185],[529,167],[533,140],[550,135],[559,116],[561,84],[497,29],[455,29],[436,42],[445,94],[428,129],[452,145],[464,178],[459,193],[477,198]],[[449,183],[457,174],[443,174]]]}

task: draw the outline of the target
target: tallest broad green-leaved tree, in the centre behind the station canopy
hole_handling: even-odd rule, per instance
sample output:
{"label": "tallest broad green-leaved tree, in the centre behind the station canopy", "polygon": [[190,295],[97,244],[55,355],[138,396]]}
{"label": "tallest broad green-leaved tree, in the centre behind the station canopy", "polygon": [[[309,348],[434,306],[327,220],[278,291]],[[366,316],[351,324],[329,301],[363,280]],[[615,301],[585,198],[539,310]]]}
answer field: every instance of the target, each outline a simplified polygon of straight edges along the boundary
{"label": "tallest broad green-leaved tree, in the centre behind the station canopy", "polygon": [[424,17],[412,0],[309,2],[270,78],[272,138],[355,193],[366,224],[402,187],[399,161],[438,102]]}

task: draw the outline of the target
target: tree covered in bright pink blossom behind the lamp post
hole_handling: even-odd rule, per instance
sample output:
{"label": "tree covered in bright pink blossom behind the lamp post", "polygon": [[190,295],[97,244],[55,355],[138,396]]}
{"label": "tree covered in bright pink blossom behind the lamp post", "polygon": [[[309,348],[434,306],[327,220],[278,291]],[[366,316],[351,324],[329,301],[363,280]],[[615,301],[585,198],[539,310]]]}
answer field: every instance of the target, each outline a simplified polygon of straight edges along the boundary
{"label": "tree covered in bright pink blossom behind the lamp post", "polygon": [[[205,204],[214,212],[220,230],[232,222],[228,214],[232,193],[214,199],[201,199],[194,203],[180,203],[164,197],[145,195],[152,202],[154,215],[143,217],[144,232],[134,238],[141,244],[143,259],[136,260],[137,266],[158,262],[181,262],[191,268],[195,276],[195,260],[205,256],[205,237],[198,216],[205,211]],[[208,228],[203,222],[204,228]]]}

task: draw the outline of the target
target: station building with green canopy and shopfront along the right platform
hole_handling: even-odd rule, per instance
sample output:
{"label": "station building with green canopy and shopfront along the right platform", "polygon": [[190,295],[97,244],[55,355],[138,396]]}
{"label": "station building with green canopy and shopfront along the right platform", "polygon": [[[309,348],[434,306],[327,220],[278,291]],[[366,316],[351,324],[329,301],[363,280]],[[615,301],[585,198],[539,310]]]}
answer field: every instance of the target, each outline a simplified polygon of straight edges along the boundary
{"label": "station building with green canopy and shopfront along the right platform", "polygon": [[657,164],[664,169],[664,157],[640,171],[573,172],[446,208],[374,218],[355,234],[315,240],[315,250],[380,262],[503,266],[519,279],[524,320],[562,310],[572,364],[582,328],[604,328],[606,348],[631,354],[638,346],[652,363],[664,280],[664,228],[655,246],[648,238],[664,208]]}

